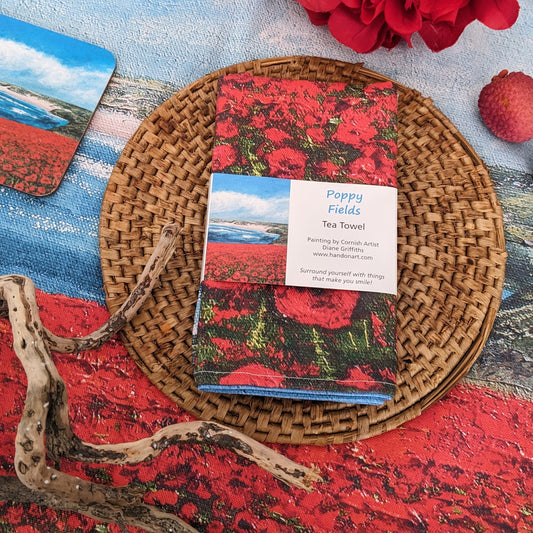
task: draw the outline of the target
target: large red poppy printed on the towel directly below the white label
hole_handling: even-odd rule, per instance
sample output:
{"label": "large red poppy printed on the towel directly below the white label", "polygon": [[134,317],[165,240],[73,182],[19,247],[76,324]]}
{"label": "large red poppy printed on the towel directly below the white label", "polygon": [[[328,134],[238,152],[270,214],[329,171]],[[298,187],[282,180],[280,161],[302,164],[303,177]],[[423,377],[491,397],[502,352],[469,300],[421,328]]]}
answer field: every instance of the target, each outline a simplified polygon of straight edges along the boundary
{"label": "large red poppy printed on the towel directly below the white label", "polygon": [[349,326],[357,306],[356,291],[327,291],[279,286],[274,290],[277,310],[297,322],[338,329]]}

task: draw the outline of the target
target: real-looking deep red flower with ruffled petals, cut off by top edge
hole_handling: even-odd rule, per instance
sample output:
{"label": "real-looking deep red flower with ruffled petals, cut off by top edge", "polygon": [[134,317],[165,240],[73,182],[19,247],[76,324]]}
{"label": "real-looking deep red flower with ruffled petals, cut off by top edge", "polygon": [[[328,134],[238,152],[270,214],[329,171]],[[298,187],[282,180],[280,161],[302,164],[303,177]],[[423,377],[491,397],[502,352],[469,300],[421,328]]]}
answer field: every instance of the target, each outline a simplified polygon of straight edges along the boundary
{"label": "real-looking deep red flower with ruffled petals, cut off by top edge", "polygon": [[312,24],[327,24],[331,34],[356,52],[393,48],[401,39],[411,46],[419,32],[438,52],[452,46],[468,24],[479,20],[494,30],[518,18],[517,0],[297,0]]}

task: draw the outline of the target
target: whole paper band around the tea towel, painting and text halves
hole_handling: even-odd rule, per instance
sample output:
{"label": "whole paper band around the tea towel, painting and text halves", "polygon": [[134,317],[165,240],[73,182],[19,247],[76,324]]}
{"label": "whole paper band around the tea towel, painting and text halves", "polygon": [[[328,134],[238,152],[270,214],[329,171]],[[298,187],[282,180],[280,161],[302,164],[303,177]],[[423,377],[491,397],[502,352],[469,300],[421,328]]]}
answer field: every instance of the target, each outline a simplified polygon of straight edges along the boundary
{"label": "whole paper band around the tea towel, painting and text halves", "polygon": [[215,173],[203,266],[208,279],[268,283],[246,265],[282,253],[271,283],[396,294],[396,234],[394,187]]}

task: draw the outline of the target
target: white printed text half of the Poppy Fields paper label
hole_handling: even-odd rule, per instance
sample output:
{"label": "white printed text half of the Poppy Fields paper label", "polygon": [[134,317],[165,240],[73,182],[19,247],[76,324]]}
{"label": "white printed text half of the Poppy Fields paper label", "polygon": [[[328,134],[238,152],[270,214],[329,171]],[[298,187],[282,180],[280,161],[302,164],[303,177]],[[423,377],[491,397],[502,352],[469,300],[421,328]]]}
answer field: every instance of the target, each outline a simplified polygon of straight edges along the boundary
{"label": "white printed text half of the Poppy Fields paper label", "polygon": [[287,285],[396,294],[397,190],[292,181]]}

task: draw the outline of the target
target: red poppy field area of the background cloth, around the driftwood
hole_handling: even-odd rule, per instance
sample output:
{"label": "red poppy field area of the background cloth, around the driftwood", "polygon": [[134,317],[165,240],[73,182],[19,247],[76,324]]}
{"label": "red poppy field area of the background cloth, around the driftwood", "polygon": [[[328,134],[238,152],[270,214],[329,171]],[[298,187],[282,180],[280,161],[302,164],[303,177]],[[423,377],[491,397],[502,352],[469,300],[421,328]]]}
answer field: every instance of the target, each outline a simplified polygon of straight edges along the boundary
{"label": "red poppy field area of the background cloth, around the driftwood", "polygon": [[[89,333],[108,316],[92,302],[44,293],[38,301],[43,323],[59,335]],[[149,383],[117,339],[55,361],[68,386],[73,427],[84,440],[135,440],[191,419]],[[26,378],[6,320],[0,320],[0,379],[0,474],[15,475]],[[310,494],[231,452],[199,445],[167,450],[151,464],[63,461],[61,468],[95,482],[142,486],[147,502],[206,532],[532,531],[532,413],[528,400],[460,385],[405,427],[372,439],[272,445],[320,469],[324,483]],[[93,520],[34,505],[0,503],[0,517],[0,525],[23,533],[96,531]]]}

